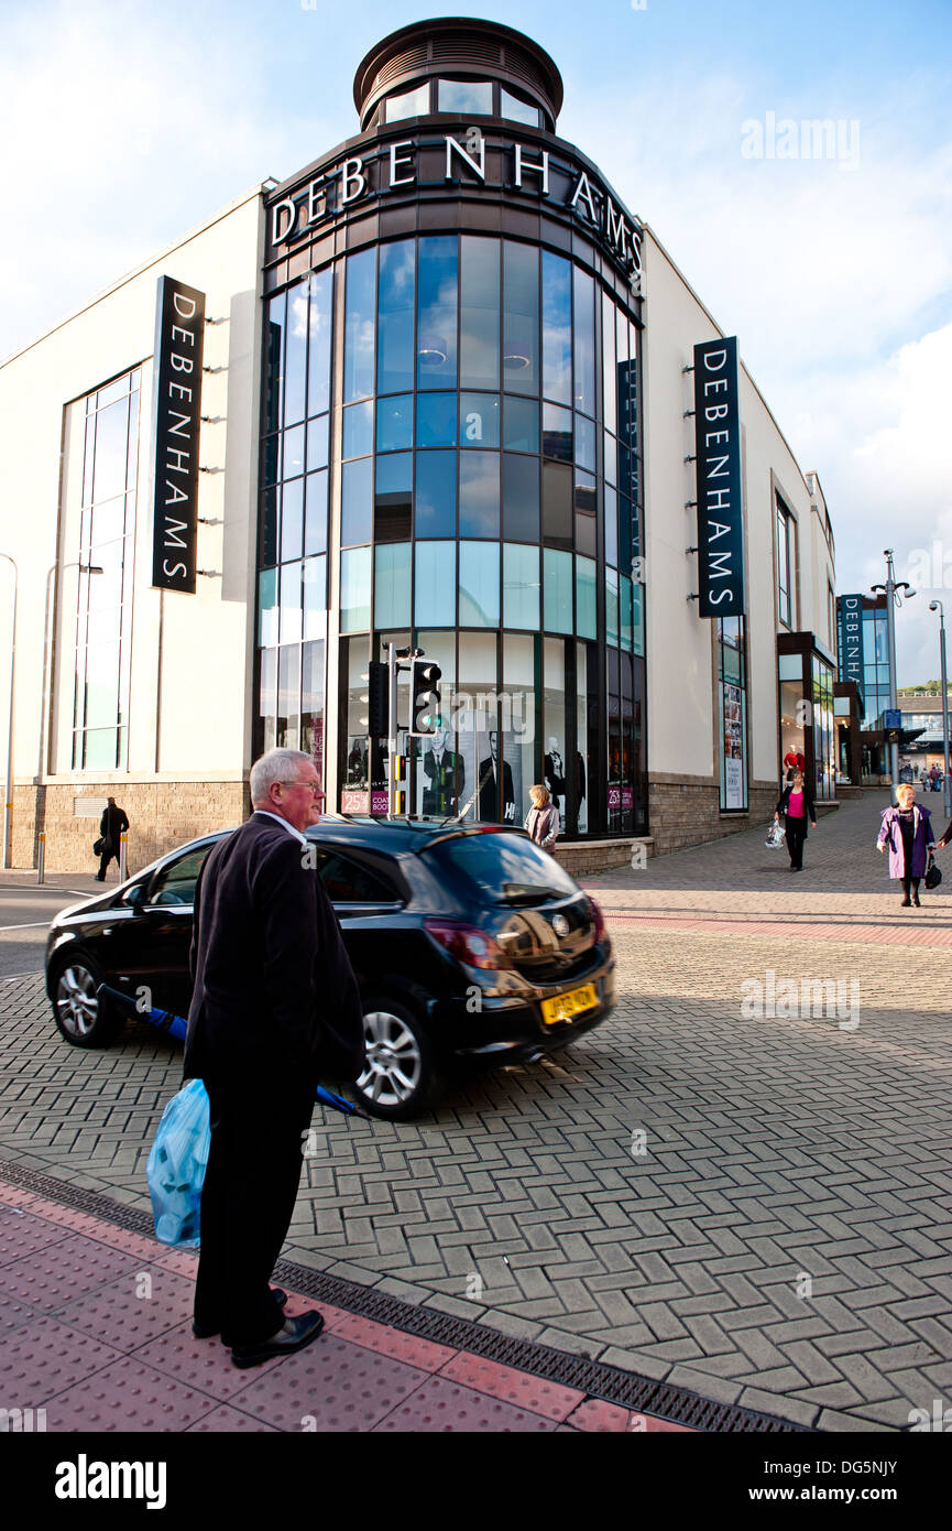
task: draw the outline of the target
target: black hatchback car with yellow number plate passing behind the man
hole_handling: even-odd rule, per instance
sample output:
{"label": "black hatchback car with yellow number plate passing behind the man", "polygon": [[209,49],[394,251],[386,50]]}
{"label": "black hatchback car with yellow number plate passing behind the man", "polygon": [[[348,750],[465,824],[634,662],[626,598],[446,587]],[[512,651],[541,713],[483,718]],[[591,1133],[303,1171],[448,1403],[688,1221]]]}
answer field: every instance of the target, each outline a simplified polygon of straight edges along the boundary
{"label": "black hatchback car with yellow number plate passing behind the man", "polygon": [[[194,883],[225,833],[55,917],[46,991],[69,1043],[106,1047],[122,1027],[101,983],[188,1014]],[[598,906],[522,830],[324,818],[306,833],[364,1003],[369,1112],[412,1116],[459,1063],[537,1059],[609,1015]]]}

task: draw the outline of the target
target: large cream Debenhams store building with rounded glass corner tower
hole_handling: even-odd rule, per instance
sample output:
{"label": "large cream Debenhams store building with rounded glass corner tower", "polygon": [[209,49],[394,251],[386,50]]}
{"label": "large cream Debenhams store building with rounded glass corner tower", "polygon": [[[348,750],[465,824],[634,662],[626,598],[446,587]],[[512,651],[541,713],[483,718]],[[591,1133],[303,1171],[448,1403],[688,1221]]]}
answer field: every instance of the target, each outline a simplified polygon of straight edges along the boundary
{"label": "large cream Debenhams store building with rounded glass corner tower", "polygon": [[520,824],[546,781],[577,865],[730,833],[773,811],[794,672],[828,796],[819,481],[557,136],[553,60],[430,20],[354,96],[355,138],[0,367],[12,865],[40,830],[90,865],[110,793],[133,868],[234,824],[272,744],[386,811],[386,643],[442,671],[438,733],[398,739],[415,814]]}

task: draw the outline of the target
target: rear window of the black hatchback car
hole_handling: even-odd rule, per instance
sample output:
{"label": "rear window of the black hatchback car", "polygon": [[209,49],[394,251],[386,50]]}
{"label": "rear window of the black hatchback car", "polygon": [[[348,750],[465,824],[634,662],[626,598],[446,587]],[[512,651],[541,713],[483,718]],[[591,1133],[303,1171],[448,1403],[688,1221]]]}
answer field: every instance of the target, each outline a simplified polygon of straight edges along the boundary
{"label": "rear window of the black hatchback car", "polygon": [[479,905],[534,905],[579,893],[569,874],[517,834],[459,834],[422,853],[455,893]]}

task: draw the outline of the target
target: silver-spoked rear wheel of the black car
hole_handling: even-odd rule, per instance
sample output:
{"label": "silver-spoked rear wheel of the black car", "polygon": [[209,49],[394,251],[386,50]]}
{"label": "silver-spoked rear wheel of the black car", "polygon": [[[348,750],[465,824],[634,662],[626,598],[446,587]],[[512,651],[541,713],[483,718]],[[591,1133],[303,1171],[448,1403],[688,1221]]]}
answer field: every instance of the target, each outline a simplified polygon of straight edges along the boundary
{"label": "silver-spoked rear wheel of the black car", "polygon": [[435,1105],[444,1078],[415,1012],[383,997],[366,1000],[364,1041],[367,1066],[354,1090],[367,1112],[404,1121]]}

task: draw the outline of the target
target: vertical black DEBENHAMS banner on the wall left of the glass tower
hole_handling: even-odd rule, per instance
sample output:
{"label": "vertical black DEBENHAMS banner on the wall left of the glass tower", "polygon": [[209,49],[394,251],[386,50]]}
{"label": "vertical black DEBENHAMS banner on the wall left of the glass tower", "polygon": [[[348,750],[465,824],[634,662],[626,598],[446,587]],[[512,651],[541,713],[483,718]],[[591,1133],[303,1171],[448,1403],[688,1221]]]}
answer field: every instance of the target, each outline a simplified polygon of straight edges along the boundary
{"label": "vertical black DEBENHAMS banner on the wall left of the glass tower", "polygon": [[205,294],[159,277],[152,583],[194,596]]}

